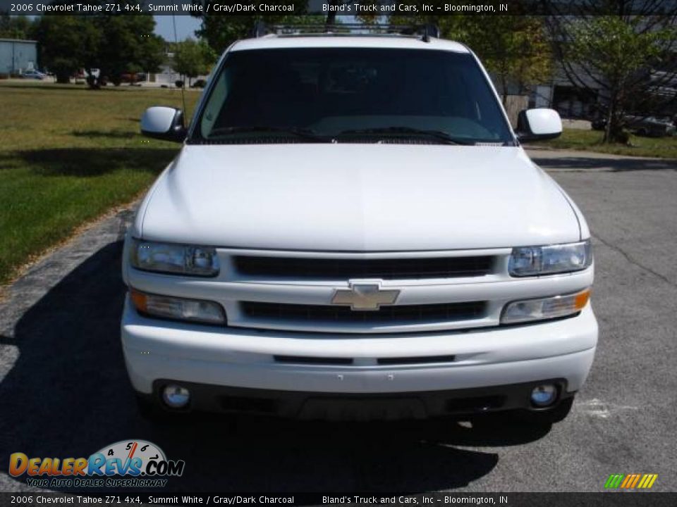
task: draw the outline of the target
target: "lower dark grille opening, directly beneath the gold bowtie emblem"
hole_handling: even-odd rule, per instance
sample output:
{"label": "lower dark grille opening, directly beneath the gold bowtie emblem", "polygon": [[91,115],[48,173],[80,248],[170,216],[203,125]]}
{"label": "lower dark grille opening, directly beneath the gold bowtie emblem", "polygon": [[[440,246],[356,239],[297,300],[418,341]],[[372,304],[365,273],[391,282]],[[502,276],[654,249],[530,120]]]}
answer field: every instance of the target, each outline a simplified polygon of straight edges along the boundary
{"label": "lower dark grille opening, directly beneath the gold bowtie emblem", "polygon": [[480,318],[484,315],[486,307],[486,301],[472,301],[382,306],[378,311],[353,311],[349,306],[240,302],[240,308],[248,318],[327,324],[453,322]]}

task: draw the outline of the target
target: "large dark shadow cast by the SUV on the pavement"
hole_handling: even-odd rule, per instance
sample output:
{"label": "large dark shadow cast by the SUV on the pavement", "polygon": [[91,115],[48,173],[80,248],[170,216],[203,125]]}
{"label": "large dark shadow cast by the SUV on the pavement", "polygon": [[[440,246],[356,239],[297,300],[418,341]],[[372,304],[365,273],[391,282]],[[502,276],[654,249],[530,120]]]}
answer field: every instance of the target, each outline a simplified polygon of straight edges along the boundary
{"label": "large dark shadow cast by the SUV on the pavement", "polygon": [[425,492],[464,486],[498,462],[497,453],[455,446],[523,444],[549,431],[480,430],[451,420],[233,423],[218,415],[152,426],[137,414],[123,366],[121,250],[111,243],[88,258],[23,315],[13,339],[0,337],[19,349],[0,383],[4,466],[13,452],[87,457],[113,442],[146,439],[185,460],[183,477],[164,491]]}

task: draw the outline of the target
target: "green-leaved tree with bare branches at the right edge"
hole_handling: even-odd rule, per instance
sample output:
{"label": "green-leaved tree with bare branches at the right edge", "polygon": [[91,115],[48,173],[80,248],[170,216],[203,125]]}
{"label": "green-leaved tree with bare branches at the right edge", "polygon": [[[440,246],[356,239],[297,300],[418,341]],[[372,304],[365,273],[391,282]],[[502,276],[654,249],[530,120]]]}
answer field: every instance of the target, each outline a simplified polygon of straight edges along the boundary
{"label": "green-leaved tree with bare branches at the right edge", "polygon": [[[603,142],[627,142],[628,113],[673,108],[677,82],[677,8],[654,0],[583,2],[580,15],[552,16],[549,31],[573,87],[599,94]],[[597,11],[595,9],[598,9]],[[599,13],[606,15],[595,15]]]}

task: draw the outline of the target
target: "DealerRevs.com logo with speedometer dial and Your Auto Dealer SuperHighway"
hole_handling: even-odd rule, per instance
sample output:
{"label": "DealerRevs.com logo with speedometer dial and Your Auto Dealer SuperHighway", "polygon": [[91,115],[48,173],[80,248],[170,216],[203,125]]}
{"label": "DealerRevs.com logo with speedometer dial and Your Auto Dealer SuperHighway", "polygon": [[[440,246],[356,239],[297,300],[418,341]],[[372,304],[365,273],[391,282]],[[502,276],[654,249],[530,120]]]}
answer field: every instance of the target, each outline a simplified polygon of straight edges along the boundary
{"label": "DealerRevs.com logo with speedometer dial and Your Auto Dealer SuperHighway", "polygon": [[167,477],[181,477],[185,461],[170,460],[145,440],[122,440],[89,458],[29,458],[9,456],[9,475],[28,475],[36,487],[164,487]]}

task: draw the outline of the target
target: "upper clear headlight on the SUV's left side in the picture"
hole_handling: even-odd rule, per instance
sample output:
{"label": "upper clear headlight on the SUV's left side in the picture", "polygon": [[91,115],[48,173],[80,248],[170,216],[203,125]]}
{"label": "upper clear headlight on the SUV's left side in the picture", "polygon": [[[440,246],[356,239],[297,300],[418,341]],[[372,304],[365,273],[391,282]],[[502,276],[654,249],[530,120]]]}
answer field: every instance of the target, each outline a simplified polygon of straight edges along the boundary
{"label": "upper clear headlight on the SUV's left side in the picture", "polygon": [[135,268],[158,273],[214,277],[219,257],[208,246],[147,242],[133,239],[130,261]]}

